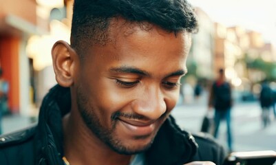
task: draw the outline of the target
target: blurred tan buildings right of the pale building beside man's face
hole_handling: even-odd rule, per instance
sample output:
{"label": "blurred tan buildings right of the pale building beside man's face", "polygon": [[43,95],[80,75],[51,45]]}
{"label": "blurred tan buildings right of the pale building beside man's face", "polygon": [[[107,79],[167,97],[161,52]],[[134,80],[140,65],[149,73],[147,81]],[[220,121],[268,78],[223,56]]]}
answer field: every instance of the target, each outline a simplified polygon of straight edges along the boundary
{"label": "blurred tan buildings right of the pale building beside man's face", "polygon": [[255,83],[268,78],[265,68],[255,62],[257,59],[275,61],[273,45],[265,43],[262,34],[240,26],[226,28],[215,23],[214,39],[214,72],[225,68],[226,78],[236,89],[251,91]]}

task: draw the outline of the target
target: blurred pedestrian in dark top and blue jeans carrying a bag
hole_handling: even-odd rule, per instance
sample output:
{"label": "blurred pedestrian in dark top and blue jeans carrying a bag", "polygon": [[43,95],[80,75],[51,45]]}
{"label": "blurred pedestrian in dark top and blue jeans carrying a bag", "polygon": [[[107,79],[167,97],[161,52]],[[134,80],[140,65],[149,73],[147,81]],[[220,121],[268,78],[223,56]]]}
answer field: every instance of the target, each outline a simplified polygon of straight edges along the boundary
{"label": "blurred pedestrian in dark top and blue jeans carrying a bag", "polygon": [[226,120],[229,152],[233,151],[231,133],[231,107],[233,100],[231,93],[231,85],[225,80],[224,69],[219,69],[218,78],[211,86],[209,94],[209,110],[215,109],[215,129],[213,132],[215,138],[218,137],[220,122]]}

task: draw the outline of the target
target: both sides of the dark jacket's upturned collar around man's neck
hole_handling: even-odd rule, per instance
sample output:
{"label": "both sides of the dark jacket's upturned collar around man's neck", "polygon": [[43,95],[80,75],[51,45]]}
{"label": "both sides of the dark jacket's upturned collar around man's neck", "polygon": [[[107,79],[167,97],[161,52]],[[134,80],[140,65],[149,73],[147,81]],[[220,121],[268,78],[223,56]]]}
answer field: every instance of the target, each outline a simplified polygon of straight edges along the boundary
{"label": "both sides of the dark jacket's upturned collar around man's neck", "polygon": [[[63,131],[61,118],[71,109],[70,89],[54,86],[43,99],[39,113],[39,145],[41,157],[49,164],[63,164]],[[156,138],[146,151],[147,164],[183,164],[197,151],[191,134],[181,131],[174,118],[162,124]],[[41,159],[39,160],[41,161]]]}

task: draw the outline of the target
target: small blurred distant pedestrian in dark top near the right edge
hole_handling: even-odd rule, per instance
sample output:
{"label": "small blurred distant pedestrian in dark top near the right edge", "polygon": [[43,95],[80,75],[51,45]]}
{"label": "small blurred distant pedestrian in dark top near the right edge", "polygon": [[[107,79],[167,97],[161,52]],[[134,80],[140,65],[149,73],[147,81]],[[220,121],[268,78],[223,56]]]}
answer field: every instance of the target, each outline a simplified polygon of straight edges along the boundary
{"label": "small blurred distant pedestrian in dark top near the right edge", "polygon": [[262,126],[265,128],[270,124],[270,109],[273,106],[273,91],[270,89],[267,80],[262,83],[259,102],[262,107]]}

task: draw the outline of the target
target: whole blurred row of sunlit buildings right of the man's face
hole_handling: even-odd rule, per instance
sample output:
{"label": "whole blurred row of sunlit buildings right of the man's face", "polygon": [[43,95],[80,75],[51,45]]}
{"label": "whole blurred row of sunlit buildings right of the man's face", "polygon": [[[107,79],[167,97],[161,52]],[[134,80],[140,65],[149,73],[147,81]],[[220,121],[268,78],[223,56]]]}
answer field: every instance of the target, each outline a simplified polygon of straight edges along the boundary
{"label": "whole blurred row of sunlit buildings right of the man's face", "polygon": [[253,91],[264,79],[276,80],[275,47],[265,42],[262,34],[215,23],[200,8],[195,12],[200,28],[193,36],[187,67],[196,78],[213,80],[217,70],[224,68],[226,79],[240,91]]}

